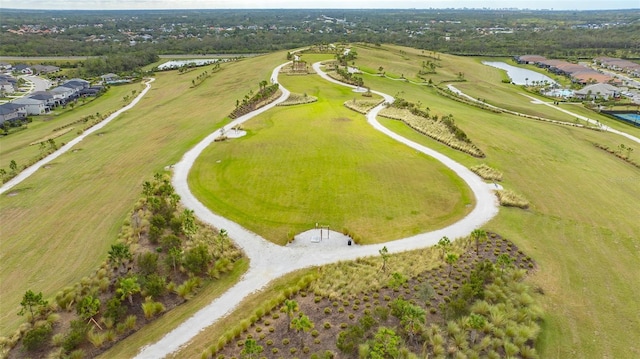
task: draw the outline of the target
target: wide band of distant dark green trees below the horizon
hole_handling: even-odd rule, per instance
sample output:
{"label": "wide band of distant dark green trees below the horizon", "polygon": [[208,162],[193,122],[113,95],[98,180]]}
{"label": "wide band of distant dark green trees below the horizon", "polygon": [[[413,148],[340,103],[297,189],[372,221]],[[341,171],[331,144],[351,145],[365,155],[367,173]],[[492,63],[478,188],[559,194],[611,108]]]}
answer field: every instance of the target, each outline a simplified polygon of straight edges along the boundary
{"label": "wide band of distant dark green trees below the horizon", "polygon": [[132,49],[136,54],[260,53],[333,42],[391,43],[460,55],[640,58],[638,18],[640,10],[3,9],[0,53],[116,56],[116,67],[123,69],[130,67]]}

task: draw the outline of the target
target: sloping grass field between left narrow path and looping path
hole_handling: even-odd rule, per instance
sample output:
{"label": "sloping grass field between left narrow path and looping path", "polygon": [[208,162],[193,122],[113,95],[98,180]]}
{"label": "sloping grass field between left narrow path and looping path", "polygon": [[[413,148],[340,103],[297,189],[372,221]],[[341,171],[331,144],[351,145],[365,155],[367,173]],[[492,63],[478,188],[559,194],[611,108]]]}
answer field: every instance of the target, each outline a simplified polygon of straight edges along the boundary
{"label": "sloping grass field between left narrow path and looping path", "polygon": [[[147,96],[100,131],[102,136],[86,138],[80,151],[61,156],[10,191],[17,195],[0,197],[1,335],[21,322],[16,313],[26,290],[50,297],[95,269],[142,182],[225,123],[235,100],[257,89],[284,57],[223,65],[195,89],[191,79],[200,72],[158,73]],[[263,71],[244,73],[258,63]]]}

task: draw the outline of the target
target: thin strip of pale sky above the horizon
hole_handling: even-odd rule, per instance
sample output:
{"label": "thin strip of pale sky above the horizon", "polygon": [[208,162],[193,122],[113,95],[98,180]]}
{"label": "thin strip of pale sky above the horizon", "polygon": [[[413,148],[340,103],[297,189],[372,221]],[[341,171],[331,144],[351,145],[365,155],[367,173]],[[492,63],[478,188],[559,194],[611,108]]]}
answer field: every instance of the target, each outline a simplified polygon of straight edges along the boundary
{"label": "thin strip of pale sky above the horizon", "polygon": [[[640,9],[640,0],[0,0],[12,9]],[[0,19],[2,14],[0,14]]]}

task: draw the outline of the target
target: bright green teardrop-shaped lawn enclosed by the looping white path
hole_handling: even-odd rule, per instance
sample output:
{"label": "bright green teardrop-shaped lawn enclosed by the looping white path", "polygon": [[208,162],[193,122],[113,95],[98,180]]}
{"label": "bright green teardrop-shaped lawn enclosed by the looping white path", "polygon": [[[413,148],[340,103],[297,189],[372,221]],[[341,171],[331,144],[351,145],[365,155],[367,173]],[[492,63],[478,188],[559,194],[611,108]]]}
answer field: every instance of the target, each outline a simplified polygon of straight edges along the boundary
{"label": "bright green teardrop-shaped lawn enclosed by the looping white path", "polygon": [[190,184],[214,212],[285,244],[315,223],[379,243],[470,211],[473,196],[452,171],[343,106],[360,94],[317,75],[281,81],[318,102],[269,111],[244,126],[248,136],[205,151]]}

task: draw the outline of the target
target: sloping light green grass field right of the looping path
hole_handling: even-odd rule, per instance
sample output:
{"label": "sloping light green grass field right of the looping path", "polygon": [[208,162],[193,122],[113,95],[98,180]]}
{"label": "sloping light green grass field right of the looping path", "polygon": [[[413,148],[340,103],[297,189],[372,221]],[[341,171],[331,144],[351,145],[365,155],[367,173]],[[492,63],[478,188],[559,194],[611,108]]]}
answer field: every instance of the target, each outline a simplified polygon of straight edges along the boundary
{"label": "sloping light green grass field right of the looping path", "polygon": [[[409,49],[406,52],[411,54]],[[358,53],[364,52],[358,49]],[[387,52],[380,54],[389,56]],[[384,66],[376,55],[371,53],[374,58],[368,60],[368,66]],[[467,77],[475,73],[468,70],[477,65],[474,59],[454,59],[451,66],[458,66]],[[381,65],[374,65],[378,62]],[[406,71],[394,66],[398,66],[396,71]],[[499,76],[496,78],[499,82]],[[610,147],[637,144],[613,134],[494,114],[400,81],[365,77],[365,82],[374,90],[402,92],[405,98],[429,106],[432,113],[454,114],[456,123],[487,158],[471,158],[417,134],[399,121],[380,121],[468,167],[486,163],[502,171],[502,184],[531,202],[528,210],[502,208],[485,229],[513,240],[539,264],[529,280],[544,292],[546,314],[537,346],[541,358],[640,356],[640,302],[635,299],[640,296],[636,285],[640,278],[640,172],[592,143]],[[540,105],[525,101],[521,106],[523,112],[533,113]],[[589,117],[593,114],[578,105],[566,106],[572,112]],[[635,129],[624,127],[618,128],[637,135]],[[632,158],[638,161],[640,154],[633,153]],[[200,353],[213,341],[198,337],[196,344],[185,350]],[[201,346],[196,347],[197,343]]]}

